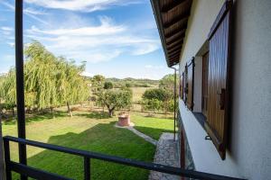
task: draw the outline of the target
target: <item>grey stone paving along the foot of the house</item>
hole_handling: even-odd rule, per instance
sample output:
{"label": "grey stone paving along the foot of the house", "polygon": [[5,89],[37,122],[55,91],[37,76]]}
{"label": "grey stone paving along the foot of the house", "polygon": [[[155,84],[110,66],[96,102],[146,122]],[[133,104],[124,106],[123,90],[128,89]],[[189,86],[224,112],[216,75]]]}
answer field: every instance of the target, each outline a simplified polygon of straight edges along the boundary
{"label": "grey stone paving along the foot of the house", "polygon": [[[176,136],[177,137],[177,136]],[[173,140],[173,133],[163,133],[158,140],[154,163],[180,167],[177,153],[177,139]],[[180,180],[180,176],[168,175],[156,171],[151,171],[149,180]]]}

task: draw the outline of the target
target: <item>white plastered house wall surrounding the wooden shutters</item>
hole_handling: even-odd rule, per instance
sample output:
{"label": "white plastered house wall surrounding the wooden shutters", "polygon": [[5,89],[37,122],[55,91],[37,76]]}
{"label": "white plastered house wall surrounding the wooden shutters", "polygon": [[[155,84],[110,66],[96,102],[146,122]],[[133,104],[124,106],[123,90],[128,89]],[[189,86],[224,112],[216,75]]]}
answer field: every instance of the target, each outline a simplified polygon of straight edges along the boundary
{"label": "white plastered house wall surrounding the wooden shutters", "polygon": [[[180,72],[207,40],[224,0],[194,0]],[[180,113],[196,170],[269,179],[271,175],[271,1],[238,0],[233,7],[232,84],[226,159],[182,100]]]}

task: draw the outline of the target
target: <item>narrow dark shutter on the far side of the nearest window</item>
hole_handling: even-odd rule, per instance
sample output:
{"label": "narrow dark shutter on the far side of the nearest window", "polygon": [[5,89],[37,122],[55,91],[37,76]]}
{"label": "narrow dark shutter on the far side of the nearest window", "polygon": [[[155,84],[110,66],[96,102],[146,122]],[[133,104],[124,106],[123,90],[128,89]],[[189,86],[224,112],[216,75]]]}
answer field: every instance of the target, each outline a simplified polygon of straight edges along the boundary
{"label": "narrow dark shutter on the far side of the nearest window", "polygon": [[190,110],[193,110],[193,88],[194,88],[194,58],[187,64],[187,101],[186,105]]}

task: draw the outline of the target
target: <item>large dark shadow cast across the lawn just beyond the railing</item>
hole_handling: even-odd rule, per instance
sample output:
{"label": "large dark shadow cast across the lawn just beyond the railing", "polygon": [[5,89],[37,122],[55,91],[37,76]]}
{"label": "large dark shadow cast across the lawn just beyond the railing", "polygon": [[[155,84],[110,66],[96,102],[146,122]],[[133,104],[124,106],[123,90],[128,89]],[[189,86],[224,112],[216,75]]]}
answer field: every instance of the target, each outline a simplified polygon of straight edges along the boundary
{"label": "large dark shadow cast across the lawn just beyond the railing", "polygon": [[[115,123],[115,121],[99,123],[79,134],[68,132],[64,135],[52,136],[48,143],[152,162],[155,151],[154,145],[137,137],[130,130],[115,128]],[[91,179],[148,179],[149,171],[145,169],[117,165],[96,159],[91,159],[90,162]],[[28,165],[73,179],[83,179],[84,175],[83,157],[46,149],[33,157],[29,157]]]}

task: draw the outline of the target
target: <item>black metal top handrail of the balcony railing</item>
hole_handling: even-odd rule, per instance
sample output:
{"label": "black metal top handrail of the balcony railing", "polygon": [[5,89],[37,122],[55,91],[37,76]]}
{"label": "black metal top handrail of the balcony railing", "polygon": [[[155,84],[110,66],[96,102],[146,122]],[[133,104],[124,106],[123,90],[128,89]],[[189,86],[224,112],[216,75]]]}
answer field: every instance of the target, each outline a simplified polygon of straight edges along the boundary
{"label": "black metal top handrail of the balcony railing", "polygon": [[[203,172],[199,172],[199,171],[187,170],[187,169],[183,169],[180,167],[164,166],[164,165],[159,165],[159,164],[155,164],[155,163],[151,163],[151,162],[143,162],[143,161],[138,161],[135,159],[125,158],[125,157],[110,156],[110,155],[105,155],[105,154],[101,154],[101,153],[97,153],[97,152],[80,150],[80,149],[76,149],[76,148],[66,148],[66,147],[47,144],[47,143],[38,142],[38,141],[30,140],[30,139],[15,138],[12,136],[5,136],[3,139],[4,139],[4,144],[5,144],[5,151],[6,150],[9,151],[9,148],[6,147],[9,144],[6,142],[14,141],[14,142],[17,142],[17,143],[23,144],[23,145],[29,145],[29,146],[33,146],[33,147],[37,147],[37,148],[46,148],[46,149],[50,149],[50,150],[54,150],[54,151],[59,151],[59,152],[63,152],[63,153],[77,155],[80,157],[85,157],[85,160],[94,158],[94,159],[104,160],[107,162],[113,162],[113,163],[126,165],[126,166],[135,166],[135,167],[144,168],[147,170],[158,171],[161,173],[167,173],[167,174],[171,174],[171,175],[180,175],[180,176],[185,176],[185,177],[191,177],[191,178],[197,178],[197,179],[209,179],[209,180],[212,180],[212,179],[213,180],[240,180],[240,178],[229,177],[229,176],[225,176],[225,175],[213,175],[213,174],[203,173]],[[6,152],[5,152],[5,154],[6,154]],[[14,164],[13,161],[10,161],[10,164],[15,165],[17,167],[22,166],[21,164],[18,164],[18,163]],[[23,166],[25,168],[25,165],[23,165]]]}

